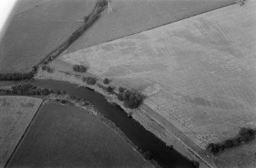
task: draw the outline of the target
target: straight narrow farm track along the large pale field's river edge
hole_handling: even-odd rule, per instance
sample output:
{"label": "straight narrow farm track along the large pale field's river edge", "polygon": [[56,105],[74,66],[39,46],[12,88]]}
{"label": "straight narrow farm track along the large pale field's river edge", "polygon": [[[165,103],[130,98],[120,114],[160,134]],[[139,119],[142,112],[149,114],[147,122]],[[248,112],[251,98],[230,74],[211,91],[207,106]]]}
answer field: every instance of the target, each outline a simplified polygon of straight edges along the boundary
{"label": "straight narrow farm track along the large pale field's river edge", "polygon": [[200,157],[201,160],[203,160],[203,162],[206,163],[209,167],[215,166],[213,160],[214,158],[211,157],[210,153],[207,153],[205,150],[202,150],[200,147],[198,147],[195,143],[193,143],[193,141],[190,140],[189,137],[183,134],[178,128],[176,128],[173,124],[167,121],[164,117],[158,115],[156,111],[152,110],[147,105],[143,104],[141,105],[141,108],[143,109],[143,111],[147,113],[147,115],[151,116],[151,118],[153,118],[154,121],[157,121],[157,123],[164,126],[164,128],[168,128],[168,131],[171,131],[173,134],[177,136],[177,138],[180,141],[186,144],[186,146],[190,147],[193,153]]}

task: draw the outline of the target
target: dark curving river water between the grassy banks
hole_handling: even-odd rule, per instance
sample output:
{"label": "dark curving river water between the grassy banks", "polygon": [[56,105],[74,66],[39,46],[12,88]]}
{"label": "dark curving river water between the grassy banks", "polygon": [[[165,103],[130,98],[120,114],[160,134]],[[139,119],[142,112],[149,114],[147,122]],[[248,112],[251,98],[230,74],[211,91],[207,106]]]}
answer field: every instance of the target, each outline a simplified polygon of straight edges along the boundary
{"label": "dark curving river water between the grassy banks", "polygon": [[[30,81],[34,86],[49,88],[53,90],[66,90],[70,95],[76,95],[88,100],[109,120],[113,121],[118,128],[120,128],[126,136],[144,151],[150,150],[152,158],[162,167],[193,167],[190,160],[183,157],[176,150],[167,147],[163,141],[147,131],[141,124],[128,118],[125,111],[118,105],[112,105],[103,95],[94,92],[91,89],[79,87],[69,82],[61,82],[55,80],[37,79]],[[0,82],[1,86],[11,86],[20,82]]]}

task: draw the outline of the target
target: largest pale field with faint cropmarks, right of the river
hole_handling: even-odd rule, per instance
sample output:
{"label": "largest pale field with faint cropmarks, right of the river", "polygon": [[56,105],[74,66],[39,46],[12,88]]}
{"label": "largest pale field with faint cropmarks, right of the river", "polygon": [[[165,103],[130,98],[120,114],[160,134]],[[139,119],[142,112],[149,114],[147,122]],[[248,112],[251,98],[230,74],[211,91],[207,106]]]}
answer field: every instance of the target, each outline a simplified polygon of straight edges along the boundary
{"label": "largest pale field with faint cropmarks, right of the river", "polygon": [[179,138],[200,153],[241,127],[256,128],[255,6],[209,11],[67,53],[50,65],[66,71],[82,63],[114,86],[143,92],[141,110],[167,130],[178,128],[178,137],[182,132]]}

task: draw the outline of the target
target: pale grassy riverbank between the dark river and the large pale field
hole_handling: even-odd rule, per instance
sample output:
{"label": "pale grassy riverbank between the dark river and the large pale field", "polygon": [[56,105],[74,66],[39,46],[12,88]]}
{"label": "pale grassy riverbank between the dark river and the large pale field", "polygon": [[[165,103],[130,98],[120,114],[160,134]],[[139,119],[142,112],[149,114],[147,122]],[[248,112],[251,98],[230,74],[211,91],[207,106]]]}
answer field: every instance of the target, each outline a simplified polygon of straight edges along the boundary
{"label": "pale grassy riverbank between the dark river and the large pale field", "polygon": [[[196,154],[193,153],[193,151],[186,146],[186,144],[180,141],[175,136],[175,134],[173,134],[169,129],[163,127],[160,123],[155,121],[154,118],[147,115],[147,111],[143,108],[143,105],[141,106],[141,108],[138,108],[138,109],[125,108],[122,102],[118,101],[117,96],[113,94],[109,94],[109,92],[105,92],[102,88],[99,87],[99,85],[106,86],[105,84],[103,84],[103,79],[97,78],[97,84],[99,85],[96,84],[91,86],[83,82],[81,78],[83,76],[86,77],[86,76],[92,76],[92,75],[89,73],[86,73],[83,76],[81,75],[82,75],[81,73],[63,72],[58,69],[53,69],[53,73],[47,73],[46,71],[42,71],[40,69],[37,73],[36,78],[37,79],[54,79],[59,81],[70,82],[79,86],[84,86],[89,89],[93,89],[95,92],[99,92],[101,95],[105,96],[105,99],[107,99],[108,102],[119,105],[125,112],[130,114],[135,121],[138,121],[138,123],[140,123],[144,128],[146,128],[147,131],[152,132],[155,136],[160,138],[160,140],[164,141],[167,147],[168,146],[173,147],[175,150],[177,150],[179,153],[182,153],[183,156],[187,157],[190,160],[197,160],[200,163],[200,167],[209,167],[209,166],[206,166],[206,163],[200,160],[199,157],[197,157]],[[96,76],[93,76],[93,77],[96,77]]]}

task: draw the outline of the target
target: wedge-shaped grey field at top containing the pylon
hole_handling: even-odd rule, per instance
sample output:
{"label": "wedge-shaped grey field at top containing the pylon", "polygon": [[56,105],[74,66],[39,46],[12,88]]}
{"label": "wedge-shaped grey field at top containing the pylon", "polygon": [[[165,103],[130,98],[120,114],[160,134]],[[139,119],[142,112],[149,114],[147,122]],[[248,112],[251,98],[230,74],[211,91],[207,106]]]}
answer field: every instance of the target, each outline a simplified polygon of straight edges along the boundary
{"label": "wedge-shaped grey field at top containing the pylon", "polygon": [[112,0],[112,14],[105,10],[99,21],[66,53],[147,31],[234,2],[236,0]]}

